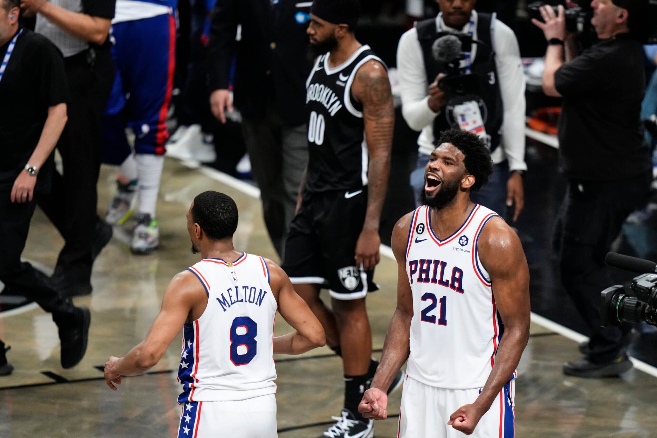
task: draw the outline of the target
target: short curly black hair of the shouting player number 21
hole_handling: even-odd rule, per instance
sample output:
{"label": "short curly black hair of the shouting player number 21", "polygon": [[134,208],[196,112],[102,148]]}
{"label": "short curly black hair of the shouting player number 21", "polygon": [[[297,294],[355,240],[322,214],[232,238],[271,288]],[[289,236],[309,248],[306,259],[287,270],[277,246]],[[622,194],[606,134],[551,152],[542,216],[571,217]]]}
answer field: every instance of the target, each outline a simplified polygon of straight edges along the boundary
{"label": "short curly black hair of the shouting player number 21", "polygon": [[463,152],[465,170],[475,179],[474,184],[470,187],[470,192],[474,193],[482,188],[493,174],[493,160],[491,160],[491,153],[481,137],[468,131],[449,129],[440,133],[436,147],[443,143],[453,144],[455,148]]}

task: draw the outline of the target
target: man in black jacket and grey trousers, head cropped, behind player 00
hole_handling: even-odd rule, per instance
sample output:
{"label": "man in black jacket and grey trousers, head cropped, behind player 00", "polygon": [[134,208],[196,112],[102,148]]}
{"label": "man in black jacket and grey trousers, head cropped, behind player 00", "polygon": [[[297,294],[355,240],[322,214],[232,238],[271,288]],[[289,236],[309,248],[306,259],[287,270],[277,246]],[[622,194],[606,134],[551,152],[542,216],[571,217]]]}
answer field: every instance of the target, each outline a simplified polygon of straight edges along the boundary
{"label": "man in black jacket and grey trousers, head cropped, behind player 00", "polygon": [[311,64],[306,58],[306,29],[311,3],[217,0],[208,45],[210,104],[222,123],[225,109],[233,110],[229,83],[237,56],[235,106],[242,112],[265,225],[281,259],[308,161],[305,108]]}

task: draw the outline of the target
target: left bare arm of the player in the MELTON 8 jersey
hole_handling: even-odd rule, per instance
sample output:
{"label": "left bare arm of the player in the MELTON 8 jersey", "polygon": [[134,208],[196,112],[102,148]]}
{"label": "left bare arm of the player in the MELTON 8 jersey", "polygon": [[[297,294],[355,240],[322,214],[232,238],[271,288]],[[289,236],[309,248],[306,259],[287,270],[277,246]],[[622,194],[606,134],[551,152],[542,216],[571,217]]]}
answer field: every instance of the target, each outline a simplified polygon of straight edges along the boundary
{"label": "left bare arm of the player in the MELTON 8 jersey", "polygon": [[198,308],[205,297],[206,292],[193,273],[184,271],[173,277],[164,292],[160,313],[150,326],[146,338],[125,357],[115,361],[112,359],[116,358],[110,357],[108,360],[105,365],[108,385],[110,380],[114,380],[112,376],[139,376],[155,366],[187,318],[191,317],[194,306]]}

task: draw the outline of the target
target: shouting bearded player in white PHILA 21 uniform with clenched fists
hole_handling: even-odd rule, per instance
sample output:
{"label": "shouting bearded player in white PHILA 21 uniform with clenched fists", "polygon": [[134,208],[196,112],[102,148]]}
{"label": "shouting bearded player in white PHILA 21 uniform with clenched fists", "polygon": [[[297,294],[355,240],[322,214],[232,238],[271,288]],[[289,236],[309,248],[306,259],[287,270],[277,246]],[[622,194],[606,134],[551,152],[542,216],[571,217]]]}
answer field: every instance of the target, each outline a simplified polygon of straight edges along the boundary
{"label": "shouting bearded player in white PHILA 21 uniform with clenched fists", "polygon": [[422,206],[399,219],[397,309],[359,411],[388,416],[386,389],[408,360],[399,437],[514,436],[514,378],[530,330],[529,270],[497,213],[470,202],[492,172],[484,142],[443,131]]}

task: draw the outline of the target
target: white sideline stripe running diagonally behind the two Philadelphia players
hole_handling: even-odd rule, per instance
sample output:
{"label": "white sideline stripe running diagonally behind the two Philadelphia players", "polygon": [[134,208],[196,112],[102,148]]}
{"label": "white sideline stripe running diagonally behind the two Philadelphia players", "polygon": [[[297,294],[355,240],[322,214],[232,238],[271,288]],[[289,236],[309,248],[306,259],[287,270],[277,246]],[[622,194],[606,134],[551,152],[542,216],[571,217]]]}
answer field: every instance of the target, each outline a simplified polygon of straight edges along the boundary
{"label": "white sideline stripe running diagonally behind the two Philadelphia players", "polygon": [[[215,181],[219,181],[227,186],[231,186],[237,190],[240,190],[241,192],[247,194],[248,196],[251,196],[252,198],[260,198],[259,188],[254,187],[248,183],[244,183],[244,181],[240,181],[235,177],[231,177],[231,175],[227,175],[226,173],[220,172],[218,170],[212,169],[211,167],[207,167],[207,166],[198,167],[198,170],[204,175],[214,179]],[[386,257],[393,260],[395,259],[395,255],[392,252],[392,248],[390,248],[390,246],[386,246],[382,244],[380,246],[380,252],[381,255],[385,255]],[[564,336],[564,338],[568,338],[578,343],[587,341],[589,339],[583,334],[576,332],[575,330],[570,330],[570,328],[568,327],[564,327],[561,324],[557,324],[556,322],[551,321],[548,318],[541,317],[541,315],[537,315],[533,312],[532,312],[532,322],[538,324],[543,328],[547,328],[547,330],[551,330],[552,332],[558,333],[561,336]],[[629,359],[630,361],[632,361],[632,364],[634,365],[635,368],[637,368],[637,370],[643,371],[646,374],[650,374],[650,376],[657,377],[657,368],[655,368],[654,366],[650,364],[646,364],[646,362],[639,361],[639,359],[635,359],[633,357]]]}

